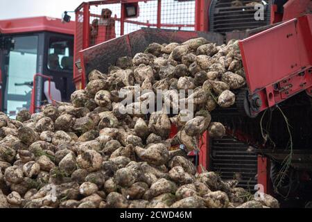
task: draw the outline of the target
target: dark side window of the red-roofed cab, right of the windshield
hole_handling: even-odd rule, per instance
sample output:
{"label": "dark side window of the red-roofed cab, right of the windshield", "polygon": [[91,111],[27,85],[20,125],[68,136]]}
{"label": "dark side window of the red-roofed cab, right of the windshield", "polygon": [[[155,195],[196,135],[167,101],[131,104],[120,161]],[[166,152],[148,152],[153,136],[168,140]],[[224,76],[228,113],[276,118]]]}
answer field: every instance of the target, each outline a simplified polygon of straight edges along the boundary
{"label": "dark side window of the red-roofed cab, right of the windshield", "polygon": [[73,71],[73,40],[51,37],[47,66],[51,71]]}

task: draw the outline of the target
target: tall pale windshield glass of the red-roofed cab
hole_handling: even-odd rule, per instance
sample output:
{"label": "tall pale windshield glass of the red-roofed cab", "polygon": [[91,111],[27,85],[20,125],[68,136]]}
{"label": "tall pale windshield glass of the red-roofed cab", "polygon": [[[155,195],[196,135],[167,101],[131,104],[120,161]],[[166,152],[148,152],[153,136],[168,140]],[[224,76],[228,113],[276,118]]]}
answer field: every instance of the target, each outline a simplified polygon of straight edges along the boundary
{"label": "tall pale windshield glass of the red-roofed cab", "polygon": [[6,93],[4,110],[11,118],[15,118],[19,110],[31,106],[31,90],[33,76],[37,71],[36,35],[12,37],[14,42],[8,52],[8,73],[6,75]]}

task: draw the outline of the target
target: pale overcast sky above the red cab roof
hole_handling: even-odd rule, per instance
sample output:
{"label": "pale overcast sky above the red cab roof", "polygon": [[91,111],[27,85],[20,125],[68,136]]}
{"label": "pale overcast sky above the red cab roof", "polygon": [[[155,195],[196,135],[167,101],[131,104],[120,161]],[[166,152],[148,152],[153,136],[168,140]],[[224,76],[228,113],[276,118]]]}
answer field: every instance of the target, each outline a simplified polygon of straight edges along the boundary
{"label": "pale overcast sky above the red cab roof", "polygon": [[0,0],[0,19],[43,15],[60,18],[62,12],[75,10],[82,2],[83,0]]}

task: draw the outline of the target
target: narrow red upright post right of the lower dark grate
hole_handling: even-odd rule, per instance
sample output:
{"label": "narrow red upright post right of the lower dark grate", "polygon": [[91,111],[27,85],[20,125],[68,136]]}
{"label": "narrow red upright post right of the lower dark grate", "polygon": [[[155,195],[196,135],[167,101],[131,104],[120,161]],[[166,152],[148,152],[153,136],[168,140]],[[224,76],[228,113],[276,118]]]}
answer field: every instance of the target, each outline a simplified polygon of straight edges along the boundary
{"label": "narrow red upright post right of the lower dark grate", "polygon": [[270,162],[267,157],[261,157],[260,155],[258,157],[258,184],[263,186],[262,191],[264,194],[269,193],[270,191]]}

